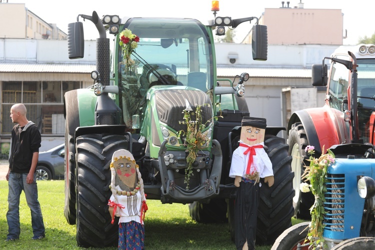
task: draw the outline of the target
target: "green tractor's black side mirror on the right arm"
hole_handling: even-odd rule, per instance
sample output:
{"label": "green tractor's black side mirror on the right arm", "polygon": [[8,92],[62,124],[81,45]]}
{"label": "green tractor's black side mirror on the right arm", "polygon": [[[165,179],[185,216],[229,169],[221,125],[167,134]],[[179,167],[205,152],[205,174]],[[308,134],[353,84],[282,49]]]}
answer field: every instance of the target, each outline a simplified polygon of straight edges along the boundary
{"label": "green tractor's black side mirror on the right arm", "polygon": [[252,26],[252,59],[267,60],[267,26],[255,24]]}

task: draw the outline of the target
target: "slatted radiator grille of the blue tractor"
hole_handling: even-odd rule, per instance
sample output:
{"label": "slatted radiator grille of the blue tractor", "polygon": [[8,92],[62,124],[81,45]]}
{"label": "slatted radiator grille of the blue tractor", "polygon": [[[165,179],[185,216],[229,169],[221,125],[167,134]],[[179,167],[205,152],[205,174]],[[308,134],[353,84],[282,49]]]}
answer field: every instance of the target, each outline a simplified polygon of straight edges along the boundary
{"label": "slatted radiator grille of the blue tractor", "polygon": [[324,230],[343,231],[345,212],[345,176],[328,174],[325,193]]}

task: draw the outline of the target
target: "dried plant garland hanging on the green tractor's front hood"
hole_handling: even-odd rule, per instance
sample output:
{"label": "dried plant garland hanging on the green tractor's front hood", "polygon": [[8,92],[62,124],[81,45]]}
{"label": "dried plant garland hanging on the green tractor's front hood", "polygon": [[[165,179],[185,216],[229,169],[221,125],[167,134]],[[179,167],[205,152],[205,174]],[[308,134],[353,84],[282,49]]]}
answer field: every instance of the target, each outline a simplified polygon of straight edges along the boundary
{"label": "dried plant garland hanging on the green tractor's front hood", "polygon": [[[182,110],[183,119],[186,122],[187,129],[186,131],[183,131],[183,130],[178,131],[178,138],[185,135],[184,145],[187,147],[186,148],[186,152],[187,152],[186,163],[187,164],[185,168],[185,179],[183,183],[186,183],[186,190],[189,189],[190,175],[193,175],[192,163],[194,163],[198,151],[203,148],[203,145],[206,142],[206,137],[203,135],[202,130],[206,127],[206,123],[210,121],[209,119],[205,123],[202,123],[202,115],[201,115],[202,106],[210,107],[210,104],[204,103],[202,105],[198,105],[195,109],[195,113],[192,110],[186,110],[186,109]],[[192,115],[195,115],[195,121],[191,120]],[[214,116],[213,119],[217,120],[218,117],[221,117],[221,116]]]}

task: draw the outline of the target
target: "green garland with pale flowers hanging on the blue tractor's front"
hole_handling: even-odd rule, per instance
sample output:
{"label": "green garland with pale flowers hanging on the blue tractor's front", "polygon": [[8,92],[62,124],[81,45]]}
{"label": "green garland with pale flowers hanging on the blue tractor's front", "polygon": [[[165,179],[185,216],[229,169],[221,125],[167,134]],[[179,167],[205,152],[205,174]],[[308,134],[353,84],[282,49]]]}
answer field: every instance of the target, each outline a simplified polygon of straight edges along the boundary
{"label": "green garland with pale flowers hanging on the blue tractor's front", "polygon": [[[313,244],[313,249],[320,244],[323,247],[324,238],[323,238],[323,219],[324,214],[324,205],[327,189],[325,182],[327,181],[327,168],[330,164],[334,162],[334,154],[331,150],[327,149],[326,154],[320,155],[319,158],[315,158],[312,155],[315,153],[313,146],[306,146],[304,149],[308,154],[310,154],[309,161],[310,165],[306,166],[302,178],[310,181],[310,184],[302,182],[300,184],[300,190],[302,192],[308,192],[311,190],[312,194],[315,197],[315,202],[310,208],[311,222],[309,225],[307,238],[310,241],[310,245]],[[324,147],[323,150],[324,151]]]}

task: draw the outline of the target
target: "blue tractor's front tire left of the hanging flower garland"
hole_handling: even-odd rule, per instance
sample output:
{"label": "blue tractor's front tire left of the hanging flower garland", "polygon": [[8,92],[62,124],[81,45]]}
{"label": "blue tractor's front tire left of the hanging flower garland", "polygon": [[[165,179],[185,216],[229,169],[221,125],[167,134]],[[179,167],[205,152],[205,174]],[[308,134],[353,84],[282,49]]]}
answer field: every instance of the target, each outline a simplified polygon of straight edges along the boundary
{"label": "blue tractor's front tire left of the hanging flower garland", "polygon": [[294,250],[297,249],[298,243],[300,245],[306,244],[298,249],[307,250],[309,241],[304,242],[304,240],[307,238],[309,223],[310,222],[298,223],[286,229],[276,238],[271,250]]}

